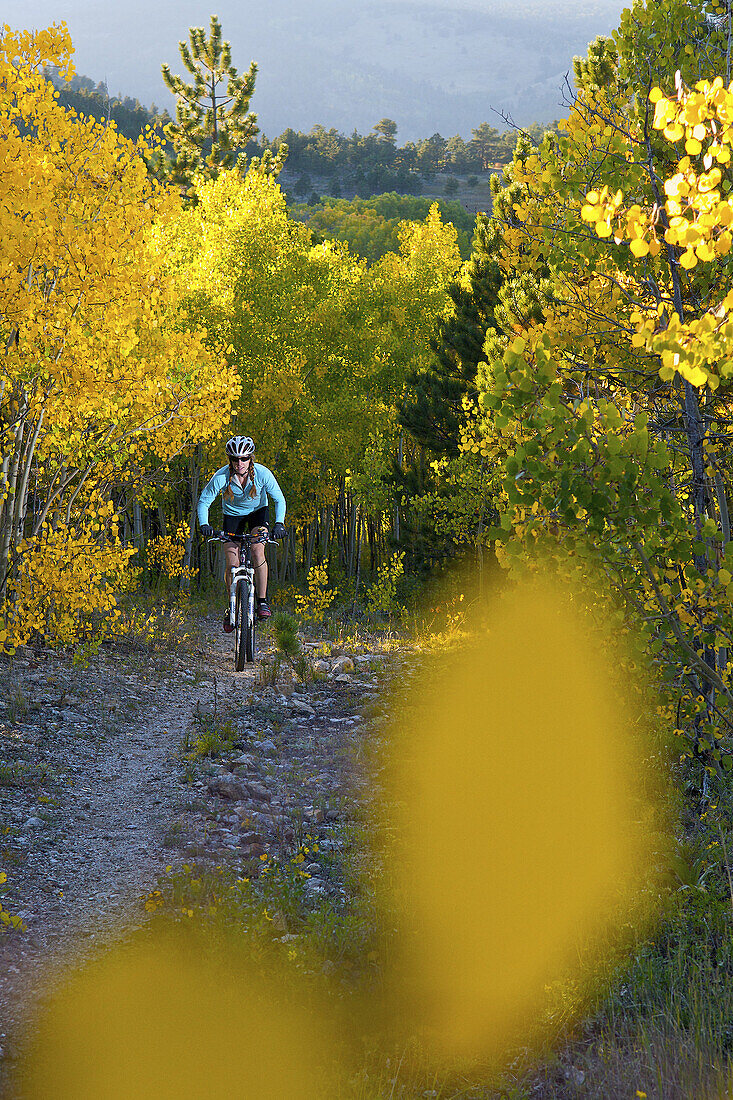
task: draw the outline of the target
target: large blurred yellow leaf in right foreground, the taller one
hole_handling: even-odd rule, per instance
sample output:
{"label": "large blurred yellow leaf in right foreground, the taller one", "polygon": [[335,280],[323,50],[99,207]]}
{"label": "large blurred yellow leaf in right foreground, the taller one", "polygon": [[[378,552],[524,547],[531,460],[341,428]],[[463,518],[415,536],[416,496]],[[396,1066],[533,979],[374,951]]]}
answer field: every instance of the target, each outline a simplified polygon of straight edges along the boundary
{"label": "large blurred yellow leaf in right foreground, the taller one", "polygon": [[405,703],[386,838],[401,1015],[440,1059],[501,1058],[537,1037],[548,990],[582,986],[641,919],[660,781],[598,641],[536,584]]}

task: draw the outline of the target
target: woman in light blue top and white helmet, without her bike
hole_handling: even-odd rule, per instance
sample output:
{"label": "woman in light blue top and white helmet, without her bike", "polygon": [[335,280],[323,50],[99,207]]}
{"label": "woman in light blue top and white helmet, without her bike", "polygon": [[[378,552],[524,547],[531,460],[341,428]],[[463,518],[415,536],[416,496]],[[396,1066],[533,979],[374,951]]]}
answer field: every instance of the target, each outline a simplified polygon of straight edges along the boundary
{"label": "woman in light blue top and white helmet, without her bike", "polygon": [[[270,528],[270,505],[267,497],[275,502],[275,526],[272,529],[274,539],[285,535],[285,497],[277,484],[275,475],[254,461],[254,443],[249,436],[234,436],[227,443],[229,465],[217,470],[211,481],[198,498],[198,522],[204,538],[211,538],[214,528],[209,524],[209,508],[221,493],[221,510],[223,513],[223,529],[227,535],[253,534],[261,536],[261,542],[252,543],[252,564],[254,565],[254,588],[258,602],[258,618],[270,618],[272,612],[267,604],[267,562],[264,556],[264,543]],[[227,558],[226,584],[227,592],[231,584],[232,570],[239,564],[239,543],[226,542]],[[229,604],[225,613],[223,629],[230,634],[234,627],[229,617]]]}

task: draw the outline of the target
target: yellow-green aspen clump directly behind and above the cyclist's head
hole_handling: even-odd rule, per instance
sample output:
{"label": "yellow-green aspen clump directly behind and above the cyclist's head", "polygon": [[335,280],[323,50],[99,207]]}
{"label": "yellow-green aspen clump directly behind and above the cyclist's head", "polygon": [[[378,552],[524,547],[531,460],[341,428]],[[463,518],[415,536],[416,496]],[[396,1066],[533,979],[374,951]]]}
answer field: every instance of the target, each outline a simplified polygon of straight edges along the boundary
{"label": "yellow-green aspen clump directly behind and above the cyclist's head", "polygon": [[[368,267],[338,242],[315,243],[288,217],[277,183],[256,169],[203,184],[172,237],[187,322],[206,328],[238,372],[232,429],[245,425],[262,461],[276,458],[296,522],[332,507],[339,481],[361,471],[372,449],[381,450],[374,464],[389,466],[395,399],[427,359],[460,262],[457,231],[437,205],[424,221],[402,223],[398,246]],[[381,506],[376,479],[359,485]]]}

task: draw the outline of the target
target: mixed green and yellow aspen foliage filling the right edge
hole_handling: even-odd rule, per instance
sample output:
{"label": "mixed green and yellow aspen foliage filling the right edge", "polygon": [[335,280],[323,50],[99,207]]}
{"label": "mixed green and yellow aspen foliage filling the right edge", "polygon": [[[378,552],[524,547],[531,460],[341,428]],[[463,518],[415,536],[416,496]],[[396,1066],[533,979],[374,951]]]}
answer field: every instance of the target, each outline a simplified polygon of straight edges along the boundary
{"label": "mixed green and yellow aspen foliage filling the right edge", "polygon": [[[683,179],[702,145],[691,130],[681,148],[674,128],[653,127],[647,94],[676,88],[682,102],[686,82],[722,74],[729,34],[702,0],[637,0],[613,42],[599,40],[577,65],[579,98],[559,133],[517,145],[496,193],[497,326],[461,443],[500,474],[504,564],[518,574],[550,559],[562,575],[609,579],[620,628],[646,639],[687,759],[708,774],[733,763],[723,736],[733,724],[730,386],[718,386],[722,366],[710,388],[702,372],[693,385],[664,366],[690,344],[687,331],[676,342],[675,324],[723,316],[730,243],[690,262],[670,232],[680,190],[664,182]],[[624,212],[589,233],[581,211],[602,186]],[[705,191],[705,210],[718,194]],[[655,226],[654,248],[630,246],[639,218]],[[660,352],[638,336],[644,323],[665,336]],[[603,606],[602,583],[590,583]]]}

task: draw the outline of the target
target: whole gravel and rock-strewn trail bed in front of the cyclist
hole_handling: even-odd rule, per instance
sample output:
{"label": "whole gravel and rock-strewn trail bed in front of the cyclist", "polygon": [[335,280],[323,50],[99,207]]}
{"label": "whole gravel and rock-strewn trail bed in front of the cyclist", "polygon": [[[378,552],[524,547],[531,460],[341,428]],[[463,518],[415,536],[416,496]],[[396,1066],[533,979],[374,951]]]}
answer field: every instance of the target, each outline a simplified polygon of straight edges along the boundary
{"label": "whole gravel and rock-strewn trail bed in front of the cyclist", "polygon": [[[24,925],[0,924],[7,1100],[3,1067],[54,980],[144,923],[166,867],[251,871],[263,853],[292,851],[304,828],[328,850],[329,827],[366,794],[355,761],[364,716],[380,721],[381,653],[307,641],[319,679],[299,685],[285,669],[273,685],[261,663],[233,671],[218,619],[204,620],[197,645],[102,649],[86,668],[24,648],[0,668],[0,906]],[[222,726],[234,747],[194,754],[194,767],[197,738]],[[318,873],[309,887],[329,889]]]}

